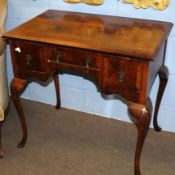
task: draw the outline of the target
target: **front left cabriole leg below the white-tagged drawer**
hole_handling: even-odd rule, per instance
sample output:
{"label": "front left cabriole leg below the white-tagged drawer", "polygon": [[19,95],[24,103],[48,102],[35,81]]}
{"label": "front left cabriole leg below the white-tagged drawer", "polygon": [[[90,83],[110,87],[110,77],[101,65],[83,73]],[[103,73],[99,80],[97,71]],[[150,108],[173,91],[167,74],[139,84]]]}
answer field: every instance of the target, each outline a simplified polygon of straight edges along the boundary
{"label": "front left cabriole leg below the white-tagged drawer", "polygon": [[24,147],[26,140],[27,140],[27,125],[25,121],[25,116],[23,112],[23,108],[21,106],[20,98],[19,95],[24,91],[24,89],[27,86],[27,81],[19,78],[14,78],[11,81],[10,85],[10,91],[11,91],[11,99],[16,107],[16,110],[18,112],[20,122],[21,122],[21,127],[23,131],[23,136],[21,141],[18,144],[18,148]]}

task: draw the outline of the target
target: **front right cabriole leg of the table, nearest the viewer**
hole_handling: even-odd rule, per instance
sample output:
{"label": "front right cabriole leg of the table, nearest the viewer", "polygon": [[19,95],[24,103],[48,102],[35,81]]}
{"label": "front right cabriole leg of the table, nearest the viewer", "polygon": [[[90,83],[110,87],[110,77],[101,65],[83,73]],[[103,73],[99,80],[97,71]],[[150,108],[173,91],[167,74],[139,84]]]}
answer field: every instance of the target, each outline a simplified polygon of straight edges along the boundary
{"label": "front right cabriole leg of the table, nearest the viewer", "polygon": [[147,99],[146,105],[129,102],[129,112],[137,126],[138,137],[135,151],[134,172],[135,175],[141,175],[140,172],[140,157],[142,152],[143,143],[148,132],[150,118],[152,113],[152,103],[150,98]]}

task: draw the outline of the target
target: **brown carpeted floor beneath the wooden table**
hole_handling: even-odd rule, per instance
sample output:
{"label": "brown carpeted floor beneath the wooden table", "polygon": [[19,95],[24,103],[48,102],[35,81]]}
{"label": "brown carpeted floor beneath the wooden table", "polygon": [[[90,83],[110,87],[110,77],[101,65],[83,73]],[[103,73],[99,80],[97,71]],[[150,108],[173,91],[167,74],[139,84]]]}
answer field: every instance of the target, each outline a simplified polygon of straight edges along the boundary
{"label": "brown carpeted floor beneath the wooden table", "polygon": [[[134,175],[136,127],[133,124],[22,100],[28,141],[21,138],[11,104],[2,128],[6,155],[1,175]],[[175,134],[150,129],[141,157],[142,175],[175,174]]]}

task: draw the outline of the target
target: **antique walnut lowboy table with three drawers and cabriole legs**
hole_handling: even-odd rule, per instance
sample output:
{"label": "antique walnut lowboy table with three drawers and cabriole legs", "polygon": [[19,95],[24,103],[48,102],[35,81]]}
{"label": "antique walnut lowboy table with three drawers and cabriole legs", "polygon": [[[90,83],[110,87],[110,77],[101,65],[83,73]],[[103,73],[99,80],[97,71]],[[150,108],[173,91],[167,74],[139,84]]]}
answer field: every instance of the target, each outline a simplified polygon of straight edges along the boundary
{"label": "antique walnut lowboy table with three drawers and cabriole legs", "polygon": [[14,78],[11,98],[19,113],[23,137],[27,126],[19,95],[33,78],[46,82],[53,76],[57,105],[61,106],[58,73],[69,72],[95,80],[100,92],[119,94],[127,100],[137,126],[135,175],[140,173],[142,145],[148,131],[152,105],[149,98],[157,74],[160,86],[154,127],[168,80],[164,65],[168,22],[48,10],[3,38],[10,45]]}

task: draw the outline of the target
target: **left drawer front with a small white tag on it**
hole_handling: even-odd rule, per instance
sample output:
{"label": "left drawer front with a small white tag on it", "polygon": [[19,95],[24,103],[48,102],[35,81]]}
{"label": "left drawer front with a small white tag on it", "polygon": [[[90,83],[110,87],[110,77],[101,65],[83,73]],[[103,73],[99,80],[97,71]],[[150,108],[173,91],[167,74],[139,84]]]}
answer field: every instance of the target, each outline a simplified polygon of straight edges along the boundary
{"label": "left drawer front with a small white tag on it", "polygon": [[37,77],[45,74],[45,46],[32,42],[13,42],[11,52],[17,76]]}

